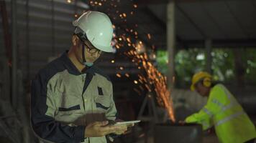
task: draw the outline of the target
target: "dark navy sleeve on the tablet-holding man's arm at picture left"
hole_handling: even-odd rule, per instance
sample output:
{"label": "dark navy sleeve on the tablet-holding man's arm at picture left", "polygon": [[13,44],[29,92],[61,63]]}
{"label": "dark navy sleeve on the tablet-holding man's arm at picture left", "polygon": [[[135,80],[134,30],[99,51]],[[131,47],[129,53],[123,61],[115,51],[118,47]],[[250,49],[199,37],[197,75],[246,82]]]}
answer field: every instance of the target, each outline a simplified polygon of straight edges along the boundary
{"label": "dark navy sleeve on the tablet-holding man's arm at picture left", "polygon": [[[83,142],[84,126],[70,127],[55,121],[52,95],[47,94],[47,76],[38,74],[32,81],[31,126],[37,137],[50,142]],[[50,89],[49,89],[50,90]],[[49,92],[48,92],[49,93]]]}

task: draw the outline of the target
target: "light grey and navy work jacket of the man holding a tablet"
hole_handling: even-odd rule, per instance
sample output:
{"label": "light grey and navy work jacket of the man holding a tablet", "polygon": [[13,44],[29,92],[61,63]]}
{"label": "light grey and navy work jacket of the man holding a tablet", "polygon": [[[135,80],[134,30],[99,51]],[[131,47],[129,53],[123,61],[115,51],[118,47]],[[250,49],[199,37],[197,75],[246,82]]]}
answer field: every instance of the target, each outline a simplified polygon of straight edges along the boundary
{"label": "light grey and navy work jacket of the man holding a tablet", "polygon": [[105,143],[84,137],[87,124],[116,119],[112,84],[92,66],[81,73],[65,52],[32,80],[31,124],[43,142]]}

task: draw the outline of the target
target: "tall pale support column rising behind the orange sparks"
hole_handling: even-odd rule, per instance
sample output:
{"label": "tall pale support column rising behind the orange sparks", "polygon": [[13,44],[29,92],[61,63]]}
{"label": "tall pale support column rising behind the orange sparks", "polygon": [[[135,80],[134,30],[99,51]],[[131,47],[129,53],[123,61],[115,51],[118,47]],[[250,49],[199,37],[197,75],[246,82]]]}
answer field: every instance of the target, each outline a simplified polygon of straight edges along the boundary
{"label": "tall pale support column rising behind the orange sparks", "polygon": [[167,4],[167,51],[168,51],[168,90],[174,87],[174,51],[175,51],[175,2]]}

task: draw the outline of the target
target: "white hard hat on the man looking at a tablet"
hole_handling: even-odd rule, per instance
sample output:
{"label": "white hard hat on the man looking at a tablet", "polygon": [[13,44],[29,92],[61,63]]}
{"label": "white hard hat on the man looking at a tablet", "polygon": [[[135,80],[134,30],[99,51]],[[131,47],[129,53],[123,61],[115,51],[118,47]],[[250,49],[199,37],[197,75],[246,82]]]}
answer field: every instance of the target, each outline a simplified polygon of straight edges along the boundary
{"label": "white hard hat on the man looking at a tablet", "polygon": [[105,52],[113,51],[111,46],[113,27],[106,14],[99,11],[87,11],[73,21],[73,26],[79,27],[83,35],[97,49]]}

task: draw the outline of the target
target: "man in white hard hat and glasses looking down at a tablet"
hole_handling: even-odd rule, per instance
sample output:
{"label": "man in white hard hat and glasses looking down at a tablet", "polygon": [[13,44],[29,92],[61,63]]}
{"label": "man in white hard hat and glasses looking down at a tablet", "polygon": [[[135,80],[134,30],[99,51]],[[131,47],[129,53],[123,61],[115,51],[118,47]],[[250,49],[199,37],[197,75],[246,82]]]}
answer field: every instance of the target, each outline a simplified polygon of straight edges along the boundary
{"label": "man in white hard hat and glasses looking down at a tablet", "polygon": [[111,52],[109,16],[87,11],[76,21],[72,46],[47,64],[32,80],[31,124],[42,142],[105,143],[126,126],[108,126],[116,119],[112,83],[93,62]]}

